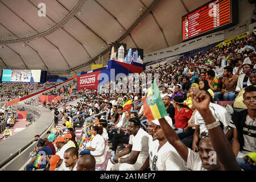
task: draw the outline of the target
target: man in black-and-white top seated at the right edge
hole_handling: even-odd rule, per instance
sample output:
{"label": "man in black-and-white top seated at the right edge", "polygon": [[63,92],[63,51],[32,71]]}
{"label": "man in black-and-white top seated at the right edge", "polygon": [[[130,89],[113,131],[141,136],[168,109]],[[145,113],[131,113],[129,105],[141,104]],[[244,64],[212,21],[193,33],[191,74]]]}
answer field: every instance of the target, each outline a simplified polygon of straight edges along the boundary
{"label": "man in black-and-white top seated at the right edge", "polygon": [[247,86],[243,94],[243,103],[247,109],[232,115],[233,122],[230,122],[233,130],[232,148],[237,158],[242,158],[249,152],[256,152],[255,96],[255,86]]}

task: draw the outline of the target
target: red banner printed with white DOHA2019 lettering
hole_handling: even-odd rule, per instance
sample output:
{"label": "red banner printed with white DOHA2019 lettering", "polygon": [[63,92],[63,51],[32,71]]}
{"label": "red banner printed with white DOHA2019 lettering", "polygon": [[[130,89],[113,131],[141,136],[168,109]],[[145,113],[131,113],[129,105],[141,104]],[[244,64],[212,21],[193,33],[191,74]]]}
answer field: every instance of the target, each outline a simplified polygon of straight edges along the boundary
{"label": "red banner printed with white DOHA2019 lettering", "polygon": [[98,75],[100,75],[100,73],[101,71],[97,71],[77,76],[77,90],[98,89]]}

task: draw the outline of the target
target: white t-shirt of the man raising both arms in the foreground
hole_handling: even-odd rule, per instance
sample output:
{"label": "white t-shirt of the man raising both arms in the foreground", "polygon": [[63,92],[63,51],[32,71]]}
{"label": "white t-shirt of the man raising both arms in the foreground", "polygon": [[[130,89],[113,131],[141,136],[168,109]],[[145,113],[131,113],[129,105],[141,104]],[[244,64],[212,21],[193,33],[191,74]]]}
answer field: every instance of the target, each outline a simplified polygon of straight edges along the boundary
{"label": "white t-shirt of the man raising both arms in the foreground", "polygon": [[203,167],[203,162],[199,154],[192,151],[190,148],[188,148],[187,164],[185,162],[183,164],[192,171],[207,171],[207,169]]}

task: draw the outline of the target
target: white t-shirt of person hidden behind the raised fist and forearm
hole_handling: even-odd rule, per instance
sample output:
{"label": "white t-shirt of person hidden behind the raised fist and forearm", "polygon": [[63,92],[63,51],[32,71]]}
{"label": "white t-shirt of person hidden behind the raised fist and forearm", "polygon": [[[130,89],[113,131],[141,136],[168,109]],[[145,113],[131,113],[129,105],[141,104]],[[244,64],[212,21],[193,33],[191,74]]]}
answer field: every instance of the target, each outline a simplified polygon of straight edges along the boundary
{"label": "white t-shirt of person hidden behind the raised fist and forearm", "polygon": [[[209,104],[209,109],[212,112],[212,115],[215,119],[218,119],[223,125],[224,125],[224,133],[226,133],[229,129],[229,123],[231,120],[231,115],[228,113],[228,111],[217,104],[213,104],[210,102]],[[199,111],[196,111],[195,114],[195,125],[200,126],[200,134],[203,133],[204,131],[208,133],[207,128],[205,127],[205,122]]]}

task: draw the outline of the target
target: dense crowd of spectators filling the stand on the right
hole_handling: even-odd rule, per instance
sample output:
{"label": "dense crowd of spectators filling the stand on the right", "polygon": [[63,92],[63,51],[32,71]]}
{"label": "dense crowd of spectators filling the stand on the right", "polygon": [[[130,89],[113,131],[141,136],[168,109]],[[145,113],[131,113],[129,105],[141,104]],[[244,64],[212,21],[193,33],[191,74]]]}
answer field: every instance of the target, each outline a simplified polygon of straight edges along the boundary
{"label": "dense crowd of spectators filling the stand on the right", "polygon": [[[62,97],[61,102],[46,107],[53,109],[76,99],[77,105],[64,111],[55,109],[55,125],[62,118],[63,126],[49,133],[56,136],[50,141],[54,141],[55,155],[46,147],[49,138],[40,142],[38,151],[49,153],[48,166],[44,167],[88,169],[85,158],[103,154],[107,140],[111,145],[110,162],[121,171],[255,171],[255,48],[255,35],[247,34],[245,38],[144,71],[146,75],[152,73],[149,82],[158,82],[168,114],[151,122],[143,110],[147,88],[142,79],[135,85],[138,93],[118,93],[121,89],[115,93],[101,92],[111,88],[112,82],[98,91],[76,91],[76,83],[49,91],[46,94]],[[123,89],[123,85],[119,88]],[[86,142],[83,140],[82,147],[73,142],[74,147],[70,141],[76,139],[71,133],[82,127],[86,118],[102,111],[108,117],[95,116],[93,126],[86,132]],[[69,135],[63,136],[66,130]],[[118,152],[118,145],[123,143],[127,146]],[[27,170],[35,168],[31,163]],[[84,166],[79,167],[80,164]]]}

